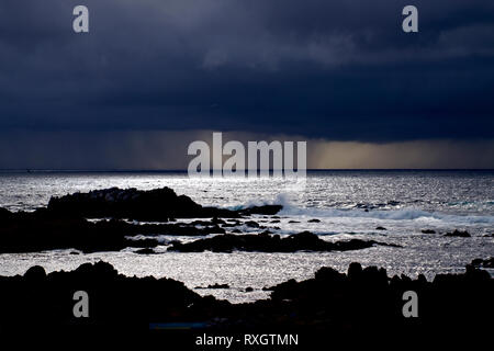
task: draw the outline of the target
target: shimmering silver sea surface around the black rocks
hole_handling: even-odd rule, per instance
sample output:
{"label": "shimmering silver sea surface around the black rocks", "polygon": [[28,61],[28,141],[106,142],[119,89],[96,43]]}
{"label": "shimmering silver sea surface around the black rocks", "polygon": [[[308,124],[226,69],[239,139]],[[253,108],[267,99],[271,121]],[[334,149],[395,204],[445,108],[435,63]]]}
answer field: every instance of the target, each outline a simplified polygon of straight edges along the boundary
{"label": "shimmering silver sea surface around the black rocks", "polygon": [[[492,171],[318,171],[310,172],[304,190],[289,191],[279,180],[202,179],[184,173],[0,173],[0,206],[30,211],[53,195],[111,186],[172,188],[203,205],[238,208],[280,203],[280,223],[258,216],[271,231],[289,235],[311,230],[326,240],[374,239],[403,248],[374,247],[349,252],[176,253],[166,252],[172,237],[162,237],[160,254],[132,250],[69,254],[49,251],[0,254],[0,275],[22,274],[41,264],[47,271],[71,270],[88,261],[105,260],[127,275],[168,276],[189,287],[227,283],[229,290],[197,290],[234,302],[266,297],[265,286],[313,276],[323,267],[345,271],[352,261],[384,267],[391,274],[461,272],[474,258],[494,256],[494,172]],[[317,218],[319,223],[307,223]],[[299,223],[289,223],[296,220]],[[384,227],[386,230],[377,230]],[[256,229],[239,227],[244,231]],[[425,235],[422,229],[437,234]],[[472,238],[446,238],[467,229]],[[176,238],[176,237],[175,237]],[[173,238],[173,239],[175,239]],[[179,238],[190,240],[191,238]],[[195,238],[193,238],[195,239]],[[251,286],[254,292],[246,293]]]}

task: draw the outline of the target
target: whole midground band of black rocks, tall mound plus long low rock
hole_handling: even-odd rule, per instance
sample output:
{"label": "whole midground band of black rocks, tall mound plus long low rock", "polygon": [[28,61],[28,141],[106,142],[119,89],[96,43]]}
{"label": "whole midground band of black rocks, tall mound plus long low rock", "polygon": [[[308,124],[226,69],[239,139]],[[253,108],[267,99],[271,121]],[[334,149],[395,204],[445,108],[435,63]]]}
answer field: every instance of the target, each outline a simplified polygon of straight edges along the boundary
{"label": "whole midground band of black rocks, tall mound plus long low rock", "polygon": [[[0,253],[36,252],[54,249],[76,249],[85,253],[120,251],[133,247],[137,253],[151,254],[159,245],[156,236],[207,236],[193,242],[173,242],[172,251],[232,252],[233,250],[259,252],[346,251],[385,245],[372,240],[327,242],[311,233],[300,233],[287,238],[259,235],[232,235],[242,233],[239,225],[256,229],[269,227],[249,219],[251,215],[271,216],[271,223],[280,205],[252,206],[238,211],[203,207],[190,197],[177,195],[171,189],[149,191],[111,188],[89,193],[75,193],[52,197],[46,208],[34,212],[12,213],[0,208]],[[88,220],[99,218],[100,220]],[[191,223],[178,223],[177,218],[204,218]],[[211,218],[211,219],[205,219]],[[226,219],[226,220],[225,220]],[[147,223],[134,223],[146,220]],[[311,219],[315,222],[318,219]],[[149,223],[153,222],[153,223]],[[267,222],[265,219],[265,222]],[[137,235],[146,239],[133,240]],[[390,245],[389,245],[390,246]]]}

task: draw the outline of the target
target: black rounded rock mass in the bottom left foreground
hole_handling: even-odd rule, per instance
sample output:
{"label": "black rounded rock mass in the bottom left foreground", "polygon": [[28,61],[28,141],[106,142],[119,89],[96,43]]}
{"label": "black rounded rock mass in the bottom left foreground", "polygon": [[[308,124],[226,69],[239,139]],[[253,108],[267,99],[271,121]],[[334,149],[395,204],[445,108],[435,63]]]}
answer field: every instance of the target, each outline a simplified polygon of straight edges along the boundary
{"label": "black rounded rock mass in the bottom left foreground", "polygon": [[[75,318],[74,293],[89,295],[89,318]],[[127,278],[109,263],[85,263],[72,272],[45,274],[31,268],[24,276],[0,276],[0,330],[61,332],[60,328],[91,330],[148,330],[150,321],[187,321],[212,318],[207,310],[229,305],[202,298],[183,283],[168,279]],[[85,320],[87,319],[87,320]],[[91,327],[88,329],[89,326]],[[30,332],[31,333],[31,332]]]}

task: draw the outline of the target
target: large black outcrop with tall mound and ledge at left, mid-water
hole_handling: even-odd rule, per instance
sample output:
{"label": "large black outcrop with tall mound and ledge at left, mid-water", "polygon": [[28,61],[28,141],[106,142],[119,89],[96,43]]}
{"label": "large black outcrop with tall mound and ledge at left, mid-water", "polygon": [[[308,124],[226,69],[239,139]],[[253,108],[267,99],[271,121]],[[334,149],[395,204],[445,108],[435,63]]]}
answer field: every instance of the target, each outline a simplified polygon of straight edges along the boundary
{"label": "large black outcrop with tall mound and ledge at left, mid-water", "polygon": [[[0,253],[53,249],[78,249],[83,252],[114,251],[126,247],[153,248],[154,238],[131,240],[137,235],[204,236],[225,234],[222,226],[239,225],[238,218],[251,214],[273,214],[279,205],[255,206],[239,211],[203,207],[171,189],[141,191],[111,188],[89,193],[52,197],[46,208],[32,213],[12,213],[0,208]],[[190,224],[167,223],[175,218],[212,218]],[[234,218],[226,223],[221,218]],[[87,218],[112,218],[89,222]],[[159,222],[134,224],[124,220]],[[259,226],[257,223],[251,222]]]}

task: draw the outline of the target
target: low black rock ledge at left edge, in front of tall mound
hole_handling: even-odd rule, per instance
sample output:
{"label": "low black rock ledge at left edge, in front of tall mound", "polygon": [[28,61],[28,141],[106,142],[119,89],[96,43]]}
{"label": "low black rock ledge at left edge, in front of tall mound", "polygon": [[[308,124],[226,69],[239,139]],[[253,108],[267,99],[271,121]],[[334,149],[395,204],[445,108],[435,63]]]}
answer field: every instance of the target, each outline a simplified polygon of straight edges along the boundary
{"label": "low black rock ledge at left edge, in front of tall mound", "polygon": [[[59,216],[47,210],[34,213],[4,213],[0,220],[1,252],[34,252],[78,249],[83,252],[119,251],[126,247],[153,248],[154,236],[204,236],[224,234],[214,222],[198,227],[195,223],[132,224],[120,219],[89,222],[77,216]],[[146,239],[132,240],[137,235]]]}

